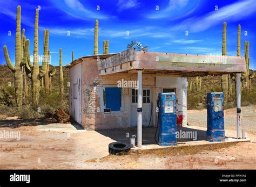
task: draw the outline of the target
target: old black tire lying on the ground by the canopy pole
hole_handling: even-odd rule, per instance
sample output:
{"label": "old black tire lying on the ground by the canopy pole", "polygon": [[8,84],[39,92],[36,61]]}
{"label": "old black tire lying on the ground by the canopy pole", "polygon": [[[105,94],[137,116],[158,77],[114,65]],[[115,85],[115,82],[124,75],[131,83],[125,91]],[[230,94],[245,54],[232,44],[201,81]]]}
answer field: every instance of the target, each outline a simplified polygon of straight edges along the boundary
{"label": "old black tire lying on the ground by the canopy pole", "polygon": [[126,142],[112,142],[109,144],[109,153],[112,155],[120,155],[128,153],[131,148],[131,145]]}

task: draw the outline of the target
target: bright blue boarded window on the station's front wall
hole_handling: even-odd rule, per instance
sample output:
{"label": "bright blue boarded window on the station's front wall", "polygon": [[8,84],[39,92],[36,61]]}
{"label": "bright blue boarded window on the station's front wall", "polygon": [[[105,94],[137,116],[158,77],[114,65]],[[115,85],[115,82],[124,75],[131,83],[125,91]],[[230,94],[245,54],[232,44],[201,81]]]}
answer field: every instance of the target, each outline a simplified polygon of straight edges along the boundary
{"label": "bright blue boarded window on the station's front wall", "polygon": [[105,88],[106,109],[110,111],[120,111],[121,109],[121,89],[117,87]]}

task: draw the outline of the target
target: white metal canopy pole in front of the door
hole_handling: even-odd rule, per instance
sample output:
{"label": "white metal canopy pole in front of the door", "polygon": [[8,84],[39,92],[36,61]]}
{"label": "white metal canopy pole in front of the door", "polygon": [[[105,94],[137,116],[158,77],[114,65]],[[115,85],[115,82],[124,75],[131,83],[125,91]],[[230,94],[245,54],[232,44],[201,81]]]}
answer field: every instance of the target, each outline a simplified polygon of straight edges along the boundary
{"label": "white metal canopy pole in front of the door", "polygon": [[142,147],[142,70],[138,70],[137,145]]}

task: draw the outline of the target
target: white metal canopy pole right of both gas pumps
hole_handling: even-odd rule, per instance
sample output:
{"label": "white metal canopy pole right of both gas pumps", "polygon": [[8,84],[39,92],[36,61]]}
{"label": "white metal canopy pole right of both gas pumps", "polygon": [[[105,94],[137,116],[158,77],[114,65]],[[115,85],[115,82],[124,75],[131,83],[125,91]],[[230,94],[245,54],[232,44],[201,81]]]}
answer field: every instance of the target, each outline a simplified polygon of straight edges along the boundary
{"label": "white metal canopy pole right of both gas pumps", "polygon": [[241,74],[237,74],[237,139],[241,138]]}

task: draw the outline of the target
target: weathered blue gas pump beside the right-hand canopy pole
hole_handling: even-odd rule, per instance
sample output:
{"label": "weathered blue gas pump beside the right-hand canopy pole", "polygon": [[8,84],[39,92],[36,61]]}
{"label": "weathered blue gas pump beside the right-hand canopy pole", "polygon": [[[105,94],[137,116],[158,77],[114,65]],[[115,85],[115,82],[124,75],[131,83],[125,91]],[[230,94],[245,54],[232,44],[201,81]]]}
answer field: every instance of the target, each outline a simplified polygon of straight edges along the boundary
{"label": "weathered blue gas pump beside the right-hand canopy pole", "polygon": [[225,141],[223,92],[207,93],[207,141]]}

